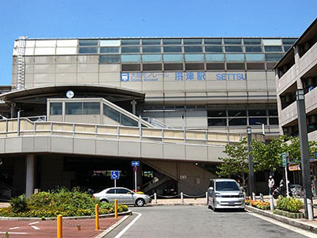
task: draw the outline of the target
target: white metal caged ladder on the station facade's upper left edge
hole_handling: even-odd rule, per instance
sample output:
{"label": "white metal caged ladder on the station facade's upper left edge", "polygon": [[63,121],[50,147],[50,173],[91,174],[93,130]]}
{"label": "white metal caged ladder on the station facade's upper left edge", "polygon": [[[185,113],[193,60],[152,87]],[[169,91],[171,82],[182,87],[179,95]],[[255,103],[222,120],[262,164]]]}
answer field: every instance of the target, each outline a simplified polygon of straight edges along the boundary
{"label": "white metal caged ladder on the station facade's upper left edge", "polygon": [[27,36],[20,36],[16,49],[17,56],[17,75],[16,75],[16,89],[24,89],[25,87],[25,44]]}

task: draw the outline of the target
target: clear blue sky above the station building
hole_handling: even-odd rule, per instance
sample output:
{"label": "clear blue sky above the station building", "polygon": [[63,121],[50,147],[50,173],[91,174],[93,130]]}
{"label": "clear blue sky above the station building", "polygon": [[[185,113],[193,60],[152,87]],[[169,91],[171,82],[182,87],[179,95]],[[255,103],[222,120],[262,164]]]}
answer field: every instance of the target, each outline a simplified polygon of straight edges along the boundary
{"label": "clear blue sky above the station building", "polygon": [[0,0],[0,85],[13,40],[55,37],[299,36],[317,0]]}

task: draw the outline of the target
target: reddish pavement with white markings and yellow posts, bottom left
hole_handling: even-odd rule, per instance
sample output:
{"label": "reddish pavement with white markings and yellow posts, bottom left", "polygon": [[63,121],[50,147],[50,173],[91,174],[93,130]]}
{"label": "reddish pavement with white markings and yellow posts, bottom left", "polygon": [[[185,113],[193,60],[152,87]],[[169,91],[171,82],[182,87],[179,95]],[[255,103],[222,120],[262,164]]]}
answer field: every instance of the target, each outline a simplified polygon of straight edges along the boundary
{"label": "reddish pavement with white markings and yellow posts, bottom left", "polygon": [[[86,220],[63,220],[63,238],[94,238],[103,230],[110,227],[118,219],[100,218],[100,230],[95,231],[95,219]],[[56,220],[55,221],[0,221],[0,237],[4,237],[5,232],[8,232],[9,238],[56,238]],[[67,224],[68,223],[68,224]],[[76,226],[84,223],[81,226],[81,231],[78,231]],[[32,227],[33,226],[33,227]]]}

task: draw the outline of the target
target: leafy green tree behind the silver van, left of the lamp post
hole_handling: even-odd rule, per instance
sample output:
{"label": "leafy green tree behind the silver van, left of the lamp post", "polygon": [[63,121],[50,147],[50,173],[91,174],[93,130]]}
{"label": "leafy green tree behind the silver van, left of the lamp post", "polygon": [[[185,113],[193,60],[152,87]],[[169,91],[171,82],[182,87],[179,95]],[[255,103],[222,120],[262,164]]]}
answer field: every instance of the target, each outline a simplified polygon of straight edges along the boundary
{"label": "leafy green tree behind the silver van, left of the lamp post", "polygon": [[218,158],[223,163],[217,166],[219,171],[216,174],[220,177],[237,176],[242,180],[242,185],[245,186],[249,174],[246,138],[233,145],[227,144],[223,153],[227,154],[228,157]]}

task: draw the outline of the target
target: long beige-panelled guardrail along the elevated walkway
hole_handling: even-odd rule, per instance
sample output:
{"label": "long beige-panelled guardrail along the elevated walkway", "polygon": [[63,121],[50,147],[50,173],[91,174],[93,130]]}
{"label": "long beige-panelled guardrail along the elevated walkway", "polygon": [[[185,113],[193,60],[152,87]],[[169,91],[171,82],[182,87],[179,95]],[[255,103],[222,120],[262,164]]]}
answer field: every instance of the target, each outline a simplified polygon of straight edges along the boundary
{"label": "long beige-panelled guardrail along the elevated walkway", "polygon": [[[41,135],[206,145],[236,143],[246,136],[246,134],[202,130],[31,121],[28,118],[0,120],[0,137]],[[263,138],[260,134],[253,136],[260,140]]]}

